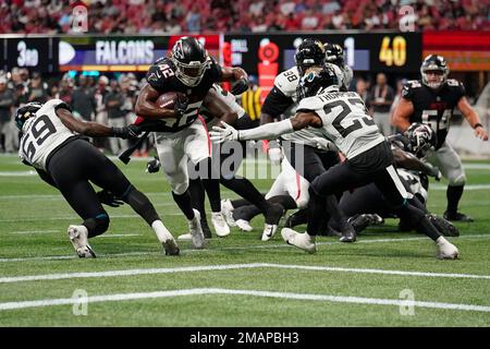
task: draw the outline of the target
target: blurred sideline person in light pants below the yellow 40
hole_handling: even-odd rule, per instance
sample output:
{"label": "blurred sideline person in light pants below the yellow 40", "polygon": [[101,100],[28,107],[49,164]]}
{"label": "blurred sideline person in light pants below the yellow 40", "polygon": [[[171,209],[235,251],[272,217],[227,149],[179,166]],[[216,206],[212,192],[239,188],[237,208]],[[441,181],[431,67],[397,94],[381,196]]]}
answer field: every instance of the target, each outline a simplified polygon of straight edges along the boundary
{"label": "blurred sideline person in light pants below the yellow 40", "polygon": [[378,73],[376,75],[376,85],[372,86],[369,96],[371,115],[379,130],[384,135],[392,134],[390,123],[390,108],[393,104],[394,92],[387,83],[387,75]]}

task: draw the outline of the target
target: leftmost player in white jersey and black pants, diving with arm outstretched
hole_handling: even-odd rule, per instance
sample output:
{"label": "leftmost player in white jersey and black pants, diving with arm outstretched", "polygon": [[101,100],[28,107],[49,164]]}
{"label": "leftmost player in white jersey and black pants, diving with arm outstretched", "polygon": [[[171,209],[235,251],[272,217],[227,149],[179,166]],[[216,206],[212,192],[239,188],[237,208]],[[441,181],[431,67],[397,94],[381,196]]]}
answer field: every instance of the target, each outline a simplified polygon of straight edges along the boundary
{"label": "leftmost player in white jersey and black pants, diving with arm outstretched", "polygon": [[[41,105],[29,103],[16,111],[21,130],[19,155],[33,166],[40,178],[57,188],[84,221],[68,229],[70,241],[79,257],[95,257],[87,239],[103,233],[109,216],[101,203],[119,206],[127,203],[155,230],[166,254],[177,255],[179,246],[160,217],[142,192],[121,170],[81,135],[136,136],[132,127],[108,128],[96,122],[75,119],[71,107],[61,99]],[[103,190],[96,193],[91,184]],[[121,202],[122,201],[122,202]]]}

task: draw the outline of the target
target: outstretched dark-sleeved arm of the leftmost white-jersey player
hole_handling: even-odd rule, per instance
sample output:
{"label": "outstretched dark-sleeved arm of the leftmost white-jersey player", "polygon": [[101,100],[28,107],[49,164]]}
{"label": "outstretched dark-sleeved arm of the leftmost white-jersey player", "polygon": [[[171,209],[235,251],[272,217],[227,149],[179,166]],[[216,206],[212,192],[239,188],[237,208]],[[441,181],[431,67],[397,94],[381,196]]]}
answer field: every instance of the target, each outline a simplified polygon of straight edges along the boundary
{"label": "outstretched dark-sleeved arm of the leftmost white-jersey player", "polygon": [[130,125],[124,128],[109,128],[97,122],[81,121],[75,119],[70,110],[64,108],[58,108],[57,116],[69,130],[91,137],[117,136],[121,139],[130,139],[138,135],[136,127]]}

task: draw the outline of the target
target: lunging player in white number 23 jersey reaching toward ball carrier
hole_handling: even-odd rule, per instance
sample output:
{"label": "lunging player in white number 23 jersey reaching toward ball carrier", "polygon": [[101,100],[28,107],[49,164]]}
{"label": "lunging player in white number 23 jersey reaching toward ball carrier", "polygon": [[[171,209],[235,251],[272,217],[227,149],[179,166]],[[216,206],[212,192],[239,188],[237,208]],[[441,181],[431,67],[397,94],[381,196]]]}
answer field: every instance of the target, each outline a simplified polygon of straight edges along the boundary
{"label": "lunging player in white number 23 jersey reaching toward ball carrier", "polygon": [[399,217],[409,219],[417,231],[436,242],[438,257],[456,258],[458,250],[439,233],[422,210],[408,203],[406,190],[393,166],[393,154],[375,121],[367,115],[359,95],[340,92],[340,82],[330,67],[308,69],[299,87],[301,103],[295,117],[244,131],[223,123],[222,128],[215,127],[210,133],[213,142],[245,141],[273,139],[311,127],[321,130],[324,137],[332,141],[345,155],[344,163],[330,168],[310,184],[307,232],[298,233],[283,228],[281,234],[284,241],[315,253],[316,236],[320,233],[326,216],[326,198],[373,182]]}

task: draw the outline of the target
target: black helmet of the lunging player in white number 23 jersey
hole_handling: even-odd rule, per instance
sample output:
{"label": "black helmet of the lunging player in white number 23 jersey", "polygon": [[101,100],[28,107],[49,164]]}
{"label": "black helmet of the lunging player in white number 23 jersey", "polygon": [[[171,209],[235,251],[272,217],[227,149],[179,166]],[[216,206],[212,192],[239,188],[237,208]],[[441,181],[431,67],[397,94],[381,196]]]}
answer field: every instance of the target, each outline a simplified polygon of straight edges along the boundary
{"label": "black helmet of the lunging player in white number 23 jersey", "polygon": [[311,67],[306,70],[297,85],[297,99],[313,97],[323,92],[339,91],[340,82],[330,64]]}

